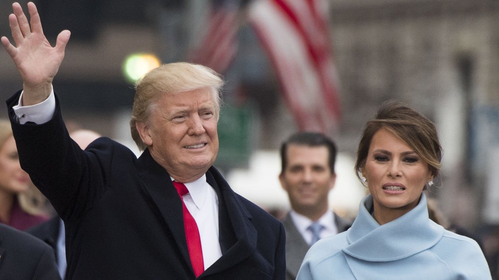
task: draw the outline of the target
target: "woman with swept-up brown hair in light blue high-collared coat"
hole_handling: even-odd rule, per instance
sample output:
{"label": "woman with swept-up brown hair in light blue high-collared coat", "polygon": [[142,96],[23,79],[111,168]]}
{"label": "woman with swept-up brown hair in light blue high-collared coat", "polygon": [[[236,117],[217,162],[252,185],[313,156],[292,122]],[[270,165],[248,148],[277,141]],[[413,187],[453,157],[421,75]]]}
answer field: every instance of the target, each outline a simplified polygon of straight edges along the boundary
{"label": "woman with swept-up brown hair in light blue high-collared coat", "polygon": [[489,280],[477,242],[428,217],[423,190],[440,170],[435,125],[415,110],[388,102],[366,124],[355,169],[370,194],[352,227],[308,251],[298,280]]}

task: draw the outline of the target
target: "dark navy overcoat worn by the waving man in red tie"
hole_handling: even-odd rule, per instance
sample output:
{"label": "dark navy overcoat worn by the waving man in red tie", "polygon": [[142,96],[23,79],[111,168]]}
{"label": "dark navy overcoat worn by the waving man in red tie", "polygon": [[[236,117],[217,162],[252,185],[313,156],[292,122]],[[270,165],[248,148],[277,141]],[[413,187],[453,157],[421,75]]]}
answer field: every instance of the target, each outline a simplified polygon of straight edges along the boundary
{"label": "dark navy overcoat worn by the waving man in red tie", "polygon": [[[69,138],[59,101],[52,120],[19,125],[7,100],[21,166],[66,228],[67,279],[194,279],[182,201],[146,149],[139,158],[107,138],[85,151]],[[236,194],[215,167],[223,256],[199,279],[284,279],[282,224]]]}

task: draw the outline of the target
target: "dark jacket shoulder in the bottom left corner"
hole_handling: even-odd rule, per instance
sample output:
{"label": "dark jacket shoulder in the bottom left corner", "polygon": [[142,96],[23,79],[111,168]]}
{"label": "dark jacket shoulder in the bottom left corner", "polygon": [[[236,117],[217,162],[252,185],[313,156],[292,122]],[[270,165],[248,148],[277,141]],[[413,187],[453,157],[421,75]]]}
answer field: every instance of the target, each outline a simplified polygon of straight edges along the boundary
{"label": "dark jacket shoulder in the bottom left corner", "polygon": [[0,224],[1,280],[60,280],[50,247],[35,237]]}

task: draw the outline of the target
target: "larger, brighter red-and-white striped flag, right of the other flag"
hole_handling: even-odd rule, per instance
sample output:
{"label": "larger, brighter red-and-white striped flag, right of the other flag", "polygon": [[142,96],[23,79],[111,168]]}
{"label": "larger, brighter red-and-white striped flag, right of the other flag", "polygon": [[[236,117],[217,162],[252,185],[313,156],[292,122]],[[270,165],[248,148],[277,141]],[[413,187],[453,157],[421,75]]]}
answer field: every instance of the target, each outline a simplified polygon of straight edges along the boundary
{"label": "larger, brighter red-and-white striped flag, right of the other flag", "polygon": [[255,0],[249,20],[300,130],[332,135],[341,119],[327,0]]}

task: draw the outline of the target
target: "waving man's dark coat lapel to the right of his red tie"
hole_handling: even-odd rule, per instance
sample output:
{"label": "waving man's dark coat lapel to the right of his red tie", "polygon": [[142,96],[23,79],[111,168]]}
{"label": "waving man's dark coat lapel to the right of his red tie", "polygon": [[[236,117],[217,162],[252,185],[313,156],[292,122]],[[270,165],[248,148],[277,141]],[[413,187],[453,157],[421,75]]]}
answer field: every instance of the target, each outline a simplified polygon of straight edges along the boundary
{"label": "waving man's dark coat lapel to the right of his red tie", "polygon": [[229,221],[219,221],[219,231],[226,230],[223,227],[232,226],[235,243],[206,270],[204,276],[227,270],[248,259],[256,250],[257,238],[256,229],[251,223],[250,213],[215,167],[210,168],[206,173],[206,178],[210,185],[220,191],[219,200],[223,199],[223,201],[222,203],[219,201],[219,207],[225,205],[229,216]]}

